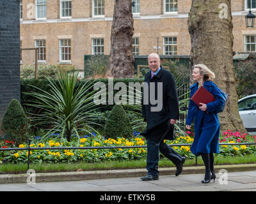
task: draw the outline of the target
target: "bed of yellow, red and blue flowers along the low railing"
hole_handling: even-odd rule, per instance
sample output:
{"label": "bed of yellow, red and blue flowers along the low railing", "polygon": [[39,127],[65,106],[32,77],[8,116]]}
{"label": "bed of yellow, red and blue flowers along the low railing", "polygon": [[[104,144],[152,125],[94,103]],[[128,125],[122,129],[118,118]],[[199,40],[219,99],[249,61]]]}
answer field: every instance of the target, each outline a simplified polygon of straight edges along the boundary
{"label": "bed of yellow, red and blue flowers along the low railing", "polygon": [[[167,144],[190,144],[193,143],[193,134],[187,132],[188,135],[176,135],[175,140],[166,140]],[[232,133],[227,130],[220,136],[221,143],[247,143],[255,142],[256,136],[248,136],[239,132]],[[141,159],[147,158],[147,148],[129,148],[122,149],[118,147],[134,147],[145,146],[147,140],[140,136],[140,133],[134,132],[134,138],[127,140],[125,138],[104,139],[99,138],[95,133],[83,136],[82,138],[72,137],[71,142],[66,139],[61,139],[58,134],[52,135],[47,142],[40,141],[40,137],[33,138],[30,147],[116,147],[116,149],[45,149],[45,150],[31,150],[31,163],[72,163],[72,162],[86,162],[93,163],[99,161],[107,161],[112,159],[127,160],[127,159]],[[0,143],[1,148],[14,147],[13,142],[5,140]],[[26,148],[27,144],[19,145],[19,148]],[[180,155],[191,159],[195,157],[189,150],[189,146],[180,145],[174,146]],[[220,156],[236,156],[244,154],[256,154],[255,145],[220,145]],[[0,151],[0,161],[3,163],[26,163],[28,161],[28,150],[11,150]]]}

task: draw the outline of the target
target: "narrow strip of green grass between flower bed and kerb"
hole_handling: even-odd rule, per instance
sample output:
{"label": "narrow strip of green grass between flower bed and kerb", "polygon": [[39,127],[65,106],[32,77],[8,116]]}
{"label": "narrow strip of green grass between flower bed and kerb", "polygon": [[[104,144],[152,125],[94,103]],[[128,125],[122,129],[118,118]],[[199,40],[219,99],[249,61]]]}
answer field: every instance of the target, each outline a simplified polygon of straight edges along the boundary
{"label": "narrow strip of green grass between flower bed and kerb", "polygon": [[[256,163],[255,154],[248,154],[246,156],[236,157],[215,157],[215,164],[248,164]],[[203,165],[201,157],[198,157],[198,166]],[[168,159],[160,159],[159,168],[161,167],[174,167],[175,165]],[[195,159],[187,159],[184,166],[195,166]],[[26,173],[28,164],[0,164],[1,173]],[[116,169],[129,169],[129,168],[146,168],[146,160],[134,161],[108,161],[100,163],[58,163],[58,164],[30,164],[29,168],[34,169],[37,173],[40,172],[60,172],[60,171],[83,171],[91,170],[116,170]]]}

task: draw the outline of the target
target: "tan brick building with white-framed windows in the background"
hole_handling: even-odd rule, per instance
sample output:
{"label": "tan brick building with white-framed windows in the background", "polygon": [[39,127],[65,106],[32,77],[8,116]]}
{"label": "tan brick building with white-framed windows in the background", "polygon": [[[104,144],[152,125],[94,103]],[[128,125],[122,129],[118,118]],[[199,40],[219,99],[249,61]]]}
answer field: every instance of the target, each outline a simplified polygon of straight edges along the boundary
{"label": "tan brick building with white-framed windows in the background", "polygon": [[[191,0],[131,0],[134,55],[189,55],[188,13]],[[22,48],[39,47],[38,61],[83,69],[84,55],[109,54],[115,0],[20,0]],[[234,51],[256,50],[256,29],[246,28],[248,8],[256,0],[232,0]],[[158,42],[158,43],[157,43]],[[35,61],[22,52],[22,64]]]}

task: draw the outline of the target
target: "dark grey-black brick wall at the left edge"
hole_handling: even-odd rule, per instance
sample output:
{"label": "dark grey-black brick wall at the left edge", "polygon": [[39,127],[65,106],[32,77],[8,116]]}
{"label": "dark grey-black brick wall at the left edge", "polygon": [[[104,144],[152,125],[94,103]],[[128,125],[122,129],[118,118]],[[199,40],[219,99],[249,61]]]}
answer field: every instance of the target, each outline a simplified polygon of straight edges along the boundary
{"label": "dark grey-black brick wall at the left edge", "polygon": [[20,101],[19,0],[0,1],[0,119],[13,98]]}

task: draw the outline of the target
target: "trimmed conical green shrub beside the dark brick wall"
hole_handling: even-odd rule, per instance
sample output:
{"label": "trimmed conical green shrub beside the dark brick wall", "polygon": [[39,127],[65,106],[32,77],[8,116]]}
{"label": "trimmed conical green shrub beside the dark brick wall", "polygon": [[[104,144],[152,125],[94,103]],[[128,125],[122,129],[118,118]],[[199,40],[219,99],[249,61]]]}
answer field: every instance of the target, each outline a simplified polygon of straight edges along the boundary
{"label": "trimmed conical green shrub beside the dark brick wall", "polygon": [[28,140],[28,117],[17,99],[12,99],[6,108],[1,128],[5,133],[5,138],[15,142],[15,145]]}

